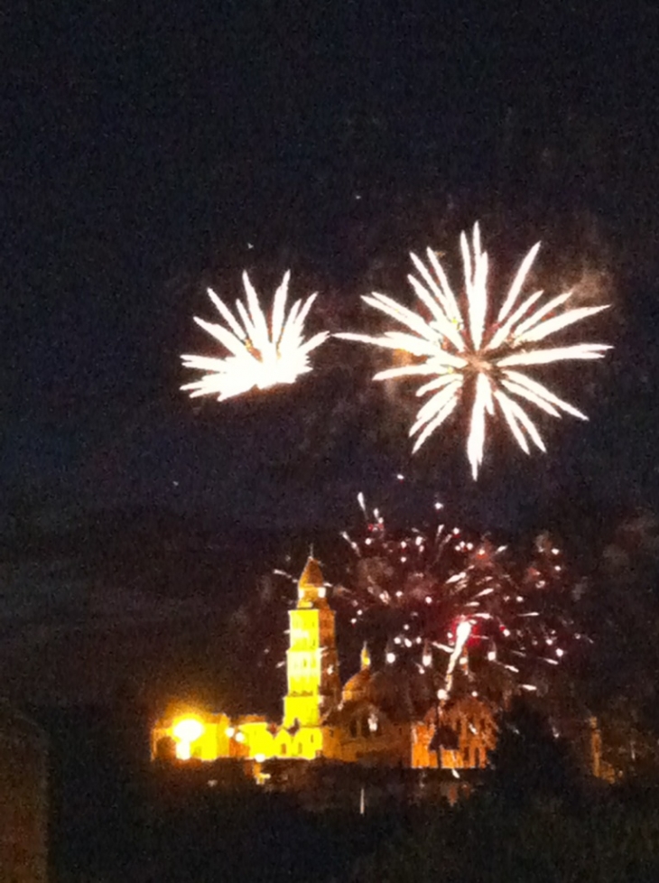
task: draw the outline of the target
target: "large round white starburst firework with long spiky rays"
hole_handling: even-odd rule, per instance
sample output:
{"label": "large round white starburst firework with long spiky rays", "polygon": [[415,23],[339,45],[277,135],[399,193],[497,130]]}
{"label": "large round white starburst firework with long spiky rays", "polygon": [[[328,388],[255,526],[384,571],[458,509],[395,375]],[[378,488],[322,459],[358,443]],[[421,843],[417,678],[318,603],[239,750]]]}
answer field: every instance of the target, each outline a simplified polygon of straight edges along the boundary
{"label": "large round white starburst firework with long spiky rays", "polygon": [[483,461],[486,415],[494,416],[496,406],[515,441],[526,453],[529,453],[528,439],[542,451],[545,447],[540,432],[518,399],[535,404],[553,417],[560,417],[563,411],[582,420],[588,419],[519,368],[569,359],[602,358],[604,351],[610,349],[599,343],[551,348],[537,346],[557,331],[606,309],[606,306],[580,307],[557,313],[568,302],[571,292],[559,294],[540,306],[536,304],[543,295],[542,291],[521,298],[526,275],[539,247],[540,243],[537,243],[524,257],[494,321],[488,317],[487,253],[481,248],[477,223],[471,245],[464,233],[460,236],[465,278],[465,293],[460,298],[462,306],[437,256],[429,248],[427,254],[431,269],[416,255],[412,255],[421,279],[408,276],[414,292],[430,313],[428,320],[386,294],[374,292],[363,300],[406,326],[412,333],[385,331],[379,337],[354,333],[338,335],[378,347],[404,350],[423,359],[419,364],[387,368],[374,377],[376,380],[386,380],[432,376],[416,391],[416,395],[433,395],[422,405],[410,430],[411,436],[418,433],[413,451],[417,451],[453,413],[463,395],[470,395],[467,456],[474,479],[478,477],[478,468]]}

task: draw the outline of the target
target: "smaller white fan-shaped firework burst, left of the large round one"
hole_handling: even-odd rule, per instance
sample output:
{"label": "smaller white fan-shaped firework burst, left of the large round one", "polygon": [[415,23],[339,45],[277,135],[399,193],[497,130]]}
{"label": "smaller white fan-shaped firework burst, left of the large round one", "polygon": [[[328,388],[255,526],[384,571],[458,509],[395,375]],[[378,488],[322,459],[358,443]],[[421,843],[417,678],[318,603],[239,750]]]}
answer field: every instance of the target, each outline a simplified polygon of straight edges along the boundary
{"label": "smaller white fan-shaped firework burst, left of the large round one", "polygon": [[311,371],[309,354],[324,343],[329,332],[320,331],[304,340],[304,322],[316,295],[295,301],[286,315],[290,278],[289,271],[274,294],[269,323],[246,273],[243,274],[246,304],[237,300],[237,317],[209,288],[209,298],[227,327],[197,317],[195,321],[228,350],[228,355],[224,358],[181,356],[185,367],[206,372],[181,389],[189,390],[191,396],[218,395],[221,402],[254,387],[266,389],[292,384],[301,374]]}

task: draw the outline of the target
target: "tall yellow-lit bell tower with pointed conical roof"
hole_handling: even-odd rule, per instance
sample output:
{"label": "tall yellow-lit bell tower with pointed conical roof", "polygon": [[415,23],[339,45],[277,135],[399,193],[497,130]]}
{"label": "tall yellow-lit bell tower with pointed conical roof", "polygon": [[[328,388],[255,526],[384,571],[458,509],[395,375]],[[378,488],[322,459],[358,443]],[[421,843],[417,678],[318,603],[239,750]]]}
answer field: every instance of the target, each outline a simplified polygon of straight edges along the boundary
{"label": "tall yellow-lit bell tower with pointed conical roof", "polygon": [[320,564],[309,558],[298,582],[298,602],[289,611],[286,654],[288,692],[283,726],[318,727],[341,698],[334,611],[327,601]]}

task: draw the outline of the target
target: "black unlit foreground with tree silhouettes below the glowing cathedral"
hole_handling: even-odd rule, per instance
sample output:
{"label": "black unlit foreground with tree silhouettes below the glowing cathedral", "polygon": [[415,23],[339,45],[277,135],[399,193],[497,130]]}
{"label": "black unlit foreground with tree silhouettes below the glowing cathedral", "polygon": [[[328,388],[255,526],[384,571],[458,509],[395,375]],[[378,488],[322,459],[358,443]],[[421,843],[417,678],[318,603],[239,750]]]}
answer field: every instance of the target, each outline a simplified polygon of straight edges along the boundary
{"label": "black unlit foreground with tree silhouettes below the glowing cathedral", "polygon": [[489,776],[453,807],[383,798],[361,814],[256,787],[154,786],[99,712],[42,713],[42,725],[52,883],[659,879],[654,787],[584,784],[536,748],[543,775]]}

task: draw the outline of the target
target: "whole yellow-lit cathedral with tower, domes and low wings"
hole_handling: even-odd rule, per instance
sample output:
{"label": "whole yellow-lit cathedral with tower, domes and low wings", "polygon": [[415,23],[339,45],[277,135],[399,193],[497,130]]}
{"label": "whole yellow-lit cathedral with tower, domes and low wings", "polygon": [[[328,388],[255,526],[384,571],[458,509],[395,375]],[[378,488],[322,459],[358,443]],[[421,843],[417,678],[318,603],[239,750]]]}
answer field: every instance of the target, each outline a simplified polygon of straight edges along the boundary
{"label": "whole yellow-lit cathedral with tower, domes and low wings", "polygon": [[367,646],[359,671],[341,686],[335,614],[320,565],[310,558],[289,611],[283,720],[190,712],[156,723],[153,759],[326,760],[399,768],[485,767],[497,741],[496,709],[464,693],[438,718],[428,651],[401,676],[376,672]]}

